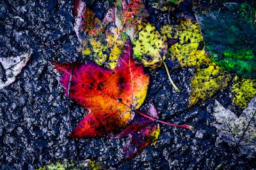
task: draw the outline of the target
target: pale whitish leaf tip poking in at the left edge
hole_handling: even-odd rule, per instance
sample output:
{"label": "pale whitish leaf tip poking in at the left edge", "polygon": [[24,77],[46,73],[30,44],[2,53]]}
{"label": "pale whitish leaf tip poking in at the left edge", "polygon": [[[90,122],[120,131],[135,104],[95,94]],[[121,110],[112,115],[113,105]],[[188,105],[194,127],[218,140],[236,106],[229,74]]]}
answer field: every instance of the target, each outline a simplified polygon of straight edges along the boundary
{"label": "pale whitish leaf tip poking in at the left edge", "polygon": [[26,66],[32,52],[15,57],[0,57],[0,90],[15,81],[15,77]]}

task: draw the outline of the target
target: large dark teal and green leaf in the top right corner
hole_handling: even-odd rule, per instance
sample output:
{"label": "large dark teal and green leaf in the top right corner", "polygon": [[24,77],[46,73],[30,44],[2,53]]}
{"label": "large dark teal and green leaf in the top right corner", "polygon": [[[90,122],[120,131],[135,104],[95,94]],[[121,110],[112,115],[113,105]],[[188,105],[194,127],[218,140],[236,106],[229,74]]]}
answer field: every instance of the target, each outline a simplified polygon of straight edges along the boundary
{"label": "large dark teal and green leaf in the top right corner", "polygon": [[218,66],[243,78],[256,78],[255,2],[225,3],[206,13],[196,13],[205,50]]}

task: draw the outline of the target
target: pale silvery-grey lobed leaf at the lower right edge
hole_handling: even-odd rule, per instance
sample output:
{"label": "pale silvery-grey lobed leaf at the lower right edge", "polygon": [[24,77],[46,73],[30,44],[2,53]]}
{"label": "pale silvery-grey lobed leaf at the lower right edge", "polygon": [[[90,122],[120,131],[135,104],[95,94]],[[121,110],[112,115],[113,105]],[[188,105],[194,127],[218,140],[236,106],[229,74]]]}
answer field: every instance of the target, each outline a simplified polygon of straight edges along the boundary
{"label": "pale silvery-grey lobed leaf at the lower right edge", "polygon": [[218,131],[218,138],[230,146],[237,147],[240,155],[253,158],[256,156],[256,97],[254,97],[247,108],[243,110],[240,117],[232,111],[224,108],[215,101],[214,126]]}

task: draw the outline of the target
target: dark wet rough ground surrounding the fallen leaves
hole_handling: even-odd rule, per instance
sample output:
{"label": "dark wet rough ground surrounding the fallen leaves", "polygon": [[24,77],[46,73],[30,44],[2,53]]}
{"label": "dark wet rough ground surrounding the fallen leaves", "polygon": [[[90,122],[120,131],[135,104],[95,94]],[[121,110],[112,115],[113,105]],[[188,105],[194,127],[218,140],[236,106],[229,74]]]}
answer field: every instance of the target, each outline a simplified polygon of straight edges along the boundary
{"label": "dark wet rough ground surrounding the fallen leaves", "polygon": [[221,163],[223,169],[256,167],[246,155],[238,157],[236,148],[216,141],[214,99],[228,103],[228,92],[177,114],[188,108],[194,70],[174,69],[168,61],[182,95],[172,89],[161,67],[147,71],[151,80],[145,103],[154,103],[160,118],[195,129],[161,125],[156,146],[125,162],[120,162],[125,139],[68,139],[86,110],[74,101],[69,104],[51,61],[84,60],[73,24],[72,1],[0,2],[0,56],[33,51],[15,83],[0,90],[0,169],[35,169],[56,159],[91,159],[110,169],[215,169]]}

